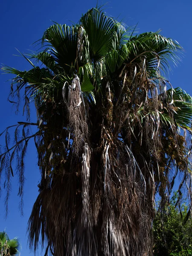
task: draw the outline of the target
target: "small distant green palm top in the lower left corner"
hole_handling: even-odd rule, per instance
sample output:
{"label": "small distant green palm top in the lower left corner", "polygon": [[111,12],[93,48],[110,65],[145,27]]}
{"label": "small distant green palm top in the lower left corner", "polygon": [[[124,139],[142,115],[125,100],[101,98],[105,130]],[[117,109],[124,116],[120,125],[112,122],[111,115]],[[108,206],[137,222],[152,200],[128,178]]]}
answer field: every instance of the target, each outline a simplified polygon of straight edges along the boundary
{"label": "small distant green palm top in the lower left corner", "polygon": [[17,237],[9,239],[5,231],[0,232],[0,256],[19,255],[20,244]]}

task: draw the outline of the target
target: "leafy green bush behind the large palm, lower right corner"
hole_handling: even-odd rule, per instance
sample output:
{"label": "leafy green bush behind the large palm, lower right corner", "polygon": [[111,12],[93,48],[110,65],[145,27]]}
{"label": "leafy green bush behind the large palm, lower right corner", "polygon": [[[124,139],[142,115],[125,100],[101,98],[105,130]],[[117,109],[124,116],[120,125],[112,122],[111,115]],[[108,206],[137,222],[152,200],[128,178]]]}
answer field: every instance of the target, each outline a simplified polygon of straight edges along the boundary
{"label": "leafy green bush behind the large palm, lower right corner", "polygon": [[175,207],[177,200],[175,193],[166,212],[154,219],[154,256],[192,255],[192,217],[185,202]]}

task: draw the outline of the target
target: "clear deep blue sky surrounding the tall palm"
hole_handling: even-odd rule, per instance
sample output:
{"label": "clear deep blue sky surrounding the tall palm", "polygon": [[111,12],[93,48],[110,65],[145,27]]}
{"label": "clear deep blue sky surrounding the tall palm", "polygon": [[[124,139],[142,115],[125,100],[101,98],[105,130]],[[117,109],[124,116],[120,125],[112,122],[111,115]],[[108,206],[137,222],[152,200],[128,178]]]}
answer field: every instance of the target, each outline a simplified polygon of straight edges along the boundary
{"label": "clear deep blue sky surrounding the tall palm", "polygon": [[[99,0],[99,4],[104,4]],[[43,32],[52,24],[71,24],[77,22],[82,13],[96,6],[93,0],[1,0],[0,1],[0,63],[20,70],[29,69],[29,64],[18,55],[20,52],[35,50],[31,44],[41,38]],[[192,1],[191,0],[111,0],[106,6],[108,15],[119,17],[128,26],[138,23],[139,33],[156,32],[162,29],[166,37],[177,40],[185,49],[185,57],[180,65],[170,73],[168,78],[173,87],[182,87],[192,95],[191,60],[192,60]],[[6,82],[12,76],[0,74],[0,132],[17,121],[25,121],[20,114],[15,116],[11,103],[7,101],[10,86]],[[22,111],[21,111],[22,113]],[[36,122],[35,111],[32,111],[32,122]],[[0,144],[2,140],[0,140]],[[37,155],[33,143],[29,144],[26,156],[24,217],[18,211],[17,176],[12,178],[12,193],[9,200],[9,216],[4,219],[4,195],[0,200],[0,231],[6,228],[10,239],[18,236],[22,245],[21,256],[32,255],[27,247],[26,226],[32,205],[38,195],[40,172],[37,168]],[[3,180],[1,185],[3,185]],[[55,234],[56,235],[56,234]],[[41,253],[41,250],[39,250]]]}

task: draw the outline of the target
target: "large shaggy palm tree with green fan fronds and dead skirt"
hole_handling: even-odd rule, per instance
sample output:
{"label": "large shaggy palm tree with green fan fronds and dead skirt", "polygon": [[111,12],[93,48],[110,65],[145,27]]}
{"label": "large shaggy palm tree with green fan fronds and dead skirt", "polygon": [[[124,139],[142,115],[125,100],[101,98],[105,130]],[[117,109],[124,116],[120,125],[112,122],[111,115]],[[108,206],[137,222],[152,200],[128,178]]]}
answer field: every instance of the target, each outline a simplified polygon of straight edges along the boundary
{"label": "large shaggy palm tree with green fan fronds and dead skirt", "polygon": [[31,70],[3,67],[16,75],[11,96],[19,102],[24,93],[27,116],[15,125],[13,146],[12,126],[4,131],[6,199],[14,157],[22,205],[31,138],[38,151],[41,182],[28,227],[34,250],[41,238],[56,256],[150,255],[155,194],[163,211],[175,177],[183,175],[180,194],[190,178],[192,98],[163,76],[182,47],[159,32],[134,36],[125,28],[93,8],[76,25],[50,26],[41,50],[24,56]]}

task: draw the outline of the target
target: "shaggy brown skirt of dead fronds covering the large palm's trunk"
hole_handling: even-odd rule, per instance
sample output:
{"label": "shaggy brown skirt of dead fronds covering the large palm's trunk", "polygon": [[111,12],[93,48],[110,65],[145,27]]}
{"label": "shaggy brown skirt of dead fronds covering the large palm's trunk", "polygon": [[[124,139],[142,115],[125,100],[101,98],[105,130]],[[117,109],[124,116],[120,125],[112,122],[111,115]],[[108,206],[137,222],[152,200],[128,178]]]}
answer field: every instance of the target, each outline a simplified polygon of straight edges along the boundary
{"label": "shaggy brown skirt of dead fronds covering the large palm's trunk", "polygon": [[61,108],[69,125],[55,122],[59,132],[48,127],[44,133],[50,157],[44,161],[44,146],[40,193],[29,219],[31,245],[37,246],[41,230],[42,241],[47,239],[56,256],[150,255],[154,177],[150,155],[145,156],[149,124],[141,130],[137,121],[133,134],[130,99],[120,97],[114,106],[109,84],[95,109],[83,100],[77,77],[66,88]]}

